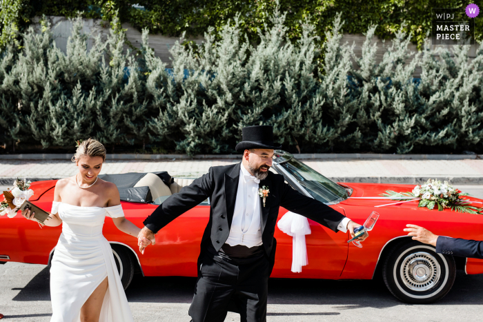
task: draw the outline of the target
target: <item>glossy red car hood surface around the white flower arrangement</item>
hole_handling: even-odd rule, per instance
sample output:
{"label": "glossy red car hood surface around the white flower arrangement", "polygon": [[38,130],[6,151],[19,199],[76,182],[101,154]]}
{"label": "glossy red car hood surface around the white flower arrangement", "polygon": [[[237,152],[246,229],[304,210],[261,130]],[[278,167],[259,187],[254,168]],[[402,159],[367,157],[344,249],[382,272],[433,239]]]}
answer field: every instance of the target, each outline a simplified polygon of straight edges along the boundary
{"label": "glossy red car hood surface around the white flower arrangement", "polygon": [[[388,205],[386,207],[397,207],[397,208],[411,208],[417,209],[417,201],[409,201],[406,203],[397,203],[397,201],[391,199],[353,199],[353,197],[383,197],[381,194],[386,192],[386,190],[393,190],[395,192],[412,192],[415,185],[398,185],[398,184],[386,184],[386,183],[341,183],[342,185],[346,185],[348,187],[353,188],[353,193],[349,199],[346,199],[339,203],[340,205],[386,205],[388,203],[396,203],[395,205]],[[457,186],[455,187],[457,188]],[[464,192],[464,190],[463,190]],[[478,199],[475,197],[469,196],[462,196],[463,199],[467,199],[469,201],[477,201],[482,202],[482,199]],[[483,207],[482,203],[473,203],[475,207],[481,208]],[[423,208],[420,208],[423,209]],[[425,208],[427,210],[427,208]],[[450,209],[445,209],[444,211],[451,211]]]}

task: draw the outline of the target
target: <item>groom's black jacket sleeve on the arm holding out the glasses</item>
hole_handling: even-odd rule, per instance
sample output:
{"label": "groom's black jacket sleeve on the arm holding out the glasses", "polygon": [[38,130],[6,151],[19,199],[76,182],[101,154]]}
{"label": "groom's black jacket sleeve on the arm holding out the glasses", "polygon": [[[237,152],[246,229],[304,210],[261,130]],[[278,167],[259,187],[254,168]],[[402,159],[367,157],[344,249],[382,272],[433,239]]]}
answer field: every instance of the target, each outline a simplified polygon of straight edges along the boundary
{"label": "groom's black jacket sleeve on the arm holding out the glasses", "polygon": [[337,210],[333,210],[325,203],[306,197],[296,190],[293,190],[287,183],[283,184],[280,205],[291,212],[301,214],[316,223],[320,223],[334,232],[338,231],[337,225],[345,218],[343,214]]}

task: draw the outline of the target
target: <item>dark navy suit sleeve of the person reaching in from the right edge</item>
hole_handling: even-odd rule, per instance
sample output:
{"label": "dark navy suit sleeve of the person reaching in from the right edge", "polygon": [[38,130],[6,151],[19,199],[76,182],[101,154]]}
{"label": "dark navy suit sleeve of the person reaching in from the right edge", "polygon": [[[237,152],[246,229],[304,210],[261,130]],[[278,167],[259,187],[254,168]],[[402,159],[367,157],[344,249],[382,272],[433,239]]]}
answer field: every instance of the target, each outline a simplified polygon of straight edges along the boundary
{"label": "dark navy suit sleeve of the person reaching in from the right edge", "polygon": [[472,259],[483,259],[483,241],[461,238],[437,237],[436,252]]}

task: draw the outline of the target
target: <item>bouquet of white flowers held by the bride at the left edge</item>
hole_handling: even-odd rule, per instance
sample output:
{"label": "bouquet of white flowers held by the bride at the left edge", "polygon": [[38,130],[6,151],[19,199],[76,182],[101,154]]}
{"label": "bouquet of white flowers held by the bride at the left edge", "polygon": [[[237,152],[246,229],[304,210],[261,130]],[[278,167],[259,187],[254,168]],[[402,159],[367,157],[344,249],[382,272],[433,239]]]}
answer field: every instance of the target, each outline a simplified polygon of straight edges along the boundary
{"label": "bouquet of white flowers held by the bride at the left edge", "polygon": [[3,192],[4,201],[0,203],[0,216],[7,215],[13,218],[19,211],[22,203],[34,195],[34,190],[30,189],[30,181],[15,180],[13,187]]}

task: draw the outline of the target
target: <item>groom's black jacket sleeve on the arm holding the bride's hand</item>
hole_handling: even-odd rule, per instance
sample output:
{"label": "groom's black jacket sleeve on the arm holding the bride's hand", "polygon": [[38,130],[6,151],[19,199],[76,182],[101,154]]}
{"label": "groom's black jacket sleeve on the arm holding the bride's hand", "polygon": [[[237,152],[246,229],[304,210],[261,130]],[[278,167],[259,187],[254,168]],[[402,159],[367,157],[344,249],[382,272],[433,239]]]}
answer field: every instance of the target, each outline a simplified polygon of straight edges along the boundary
{"label": "groom's black jacket sleeve on the arm holding the bride's hand", "polygon": [[213,168],[207,174],[196,179],[190,185],[181,188],[177,194],[172,194],[143,222],[152,232],[158,232],[171,221],[199,205],[213,194]]}

